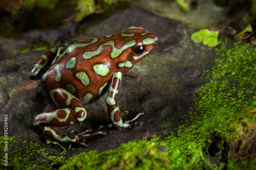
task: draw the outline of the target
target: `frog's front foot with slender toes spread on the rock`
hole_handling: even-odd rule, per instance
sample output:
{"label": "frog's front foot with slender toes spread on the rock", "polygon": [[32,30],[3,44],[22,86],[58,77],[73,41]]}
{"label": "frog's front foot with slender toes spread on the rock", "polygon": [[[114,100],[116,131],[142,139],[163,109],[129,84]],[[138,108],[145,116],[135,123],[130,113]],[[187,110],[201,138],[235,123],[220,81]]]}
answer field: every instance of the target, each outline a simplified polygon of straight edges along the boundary
{"label": "frog's front foot with slender toes spread on the rock", "polygon": [[98,129],[115,127],[117,130],[121,130],[121,129],[131,128],[131,127],[137,126],[137,125],[141,126],[143,124],[142,122],[133,123],[134,120],[136,120],[140,115],[144,115],[144,113],[139,112],[133,119],[123,121],[123,123],[121,125],[118,125],[119,122],[114,122],[113,124],[109,124],[108,126],[99,126]]}

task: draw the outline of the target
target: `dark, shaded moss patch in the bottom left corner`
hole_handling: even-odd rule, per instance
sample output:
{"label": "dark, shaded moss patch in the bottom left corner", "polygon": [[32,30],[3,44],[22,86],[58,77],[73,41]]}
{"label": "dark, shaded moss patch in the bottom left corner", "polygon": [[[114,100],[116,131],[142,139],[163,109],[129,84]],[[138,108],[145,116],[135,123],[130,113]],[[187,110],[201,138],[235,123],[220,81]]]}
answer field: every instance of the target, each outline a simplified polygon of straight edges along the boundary
{"label": "dark, shaded moss patch in the bottom left corner", "polygon": [[[3,164],[5,149],[5,138],[0,137],[0,160]],[[22,148],[22,149],[21,149]],[[22,141],[20,138],[9,137],[8,139],[8,168],[9,169],[53,169],[59,164],[67,163],[69,160],[63,157],[63,154],[50,154],[46,148],[43,148],[37,142]]]}

